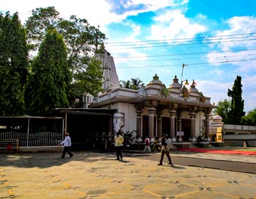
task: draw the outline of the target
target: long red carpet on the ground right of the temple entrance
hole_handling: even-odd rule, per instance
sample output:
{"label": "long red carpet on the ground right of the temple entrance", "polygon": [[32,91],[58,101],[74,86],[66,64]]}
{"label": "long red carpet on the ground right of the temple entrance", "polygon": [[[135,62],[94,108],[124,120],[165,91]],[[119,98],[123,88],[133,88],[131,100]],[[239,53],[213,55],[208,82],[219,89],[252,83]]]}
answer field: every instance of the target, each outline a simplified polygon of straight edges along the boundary
{"label": "long red carpet on the ground right of the temple entrance", "polygon": [[253,155],[256,156],[256,149],[246,150],[245,148],[234,148],[234,149],[201,149],[201,148],[191,148],[191,149],[178,149],[179,151],[191,151],[197,153],[209,153],[209,154],[239,154],[239,155]]}

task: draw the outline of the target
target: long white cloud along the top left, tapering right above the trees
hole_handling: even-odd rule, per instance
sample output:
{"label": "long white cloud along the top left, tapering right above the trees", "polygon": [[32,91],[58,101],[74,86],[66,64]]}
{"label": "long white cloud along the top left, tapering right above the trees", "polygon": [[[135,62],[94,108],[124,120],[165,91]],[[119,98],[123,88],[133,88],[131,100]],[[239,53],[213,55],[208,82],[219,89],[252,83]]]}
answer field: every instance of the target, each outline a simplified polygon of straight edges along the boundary
{"label": "long white cloud along the top left, tapering right above the trees", "polygon": [[[11,14],[18,11],[22,23],[25,23],[27,18],[31,16],[31,11],[40,7],[55,6],[55,9],[60,12],[63,18],[69,18],[71,15],[76,15],[79,18],[86,18],[92,26],[100,26],[101,31],[106,31],[107,24],[112,22],[119,22],[127,18],[127,16],[137,16],[139,13],[146,11],[156,11],[165,8],[166,6],[178,6],[187,4],[187,0],[129,0],[114,3],[117,8],[122,4],[128,9],[123,14],[116,14],[112,7],[112,2],[107,0],[73,0],[73,1],[60,1],[60,0],[1,0],[0,11],[10,11]],[[134,7],[142,4],[139,9]]]}

